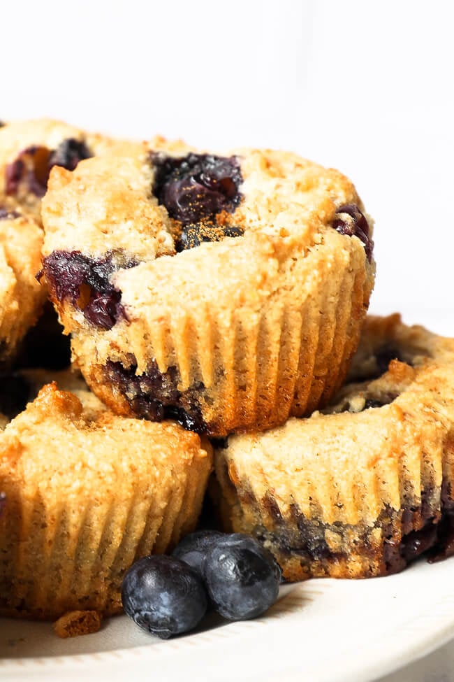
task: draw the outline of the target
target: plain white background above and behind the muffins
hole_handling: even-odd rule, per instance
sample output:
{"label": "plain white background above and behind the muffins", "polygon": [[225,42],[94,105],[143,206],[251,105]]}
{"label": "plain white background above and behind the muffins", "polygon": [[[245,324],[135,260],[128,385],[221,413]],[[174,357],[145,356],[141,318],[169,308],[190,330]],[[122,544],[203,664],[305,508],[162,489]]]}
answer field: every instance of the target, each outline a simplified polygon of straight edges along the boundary
{"label": "plain white background above and behind the muffins", "polygon": [[335,166],[376,220],[372,310],[454,335],[450,2],[10,0],[0,17],[0,118]]}

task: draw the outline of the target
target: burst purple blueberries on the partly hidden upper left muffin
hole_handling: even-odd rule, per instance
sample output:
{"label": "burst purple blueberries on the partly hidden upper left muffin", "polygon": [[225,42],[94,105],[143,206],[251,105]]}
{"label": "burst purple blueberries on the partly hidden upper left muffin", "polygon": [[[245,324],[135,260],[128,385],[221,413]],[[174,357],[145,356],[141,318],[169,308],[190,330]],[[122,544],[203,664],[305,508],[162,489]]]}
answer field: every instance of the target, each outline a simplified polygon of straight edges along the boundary
{"label": "burst purple blueberries on the partly hidden upper left muffin", "polygon": [[6,194],[17,194],[24,183],[27,191],[41,199],[47,190],[47,181],[53,166],[73,171],[82,159],[91,157],[85,142],[67,138],[54,150],[43,145],[31,145],[6,166]]}

